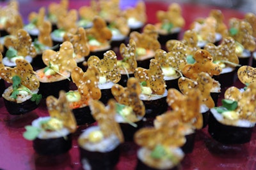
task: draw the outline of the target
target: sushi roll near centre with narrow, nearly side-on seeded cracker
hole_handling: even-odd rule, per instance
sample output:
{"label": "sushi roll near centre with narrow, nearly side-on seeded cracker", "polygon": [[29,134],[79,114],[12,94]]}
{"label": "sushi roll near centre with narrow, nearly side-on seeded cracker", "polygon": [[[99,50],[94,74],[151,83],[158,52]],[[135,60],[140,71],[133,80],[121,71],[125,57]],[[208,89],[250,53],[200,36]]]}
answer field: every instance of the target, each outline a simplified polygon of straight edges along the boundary
{"label": "sushi roll near centre with narrow, nearly side-on seeded cracker", "polygon": [[124,43],[120,45],[121,60],[117,60],[117,68],[121,74],[121,80],[118,84],[125,87],[127,80],[134,77],[134,71],[137,67],[136,61],[136,43],[133,39],[129,40],[129,44],[125,46]]}

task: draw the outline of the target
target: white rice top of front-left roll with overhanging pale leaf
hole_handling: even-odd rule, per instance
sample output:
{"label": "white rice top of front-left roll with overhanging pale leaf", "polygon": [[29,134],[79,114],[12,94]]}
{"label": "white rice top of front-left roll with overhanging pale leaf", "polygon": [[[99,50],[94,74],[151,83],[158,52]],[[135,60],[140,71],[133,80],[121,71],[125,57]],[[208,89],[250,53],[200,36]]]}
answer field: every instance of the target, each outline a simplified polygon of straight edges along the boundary
{"label": "white rice top of front-left roll with overhanging pale leaf", "polygon": [[[40,118],[37,118],[36,120],[33,120],[31,125],[33,127],[37,127],[38,129],[42,129],[42,127],[41,127],[42,122],[45,122],[50,119],[51,119],[51,117],[40,117]],[[60,131],[44,131],[44,130],[42,130],[38,134],[37,138],[39,138],[39,139],[60,138],[60,137],[68,136],[68,134],[70,134],[68,129],[63,127],[63,129],[60,129]]]}

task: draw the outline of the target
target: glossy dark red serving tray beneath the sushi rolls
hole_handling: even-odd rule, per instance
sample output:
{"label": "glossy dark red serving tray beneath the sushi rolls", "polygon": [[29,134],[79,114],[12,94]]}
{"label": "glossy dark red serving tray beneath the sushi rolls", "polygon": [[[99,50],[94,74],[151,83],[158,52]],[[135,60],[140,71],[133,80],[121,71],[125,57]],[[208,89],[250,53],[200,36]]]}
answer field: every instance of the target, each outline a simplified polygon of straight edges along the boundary
{"label": "glossy dark red serving tray beneath the sushi rolls", "polygon": [[[52,1],[25,1],[20,3],[20,13],[25,18],[30,11],[38,11],[41,6],[48,6]],[[58,2],[58,1],[57,1]],[[78,9],[82,5],[88,5],[89,1],[70,1],[70,8]],[[136,1],[122,1],[122,8],[133,5]],[[4,4],[4,3],[0,3]],[[239,11],[205,6],[200,4],[180,4],[182,13],[186,20],[184,29],[195,18],[207,17],[212,9],[220,9],[225,15],[225,22],[228,18],[243,18],[244,13]],[[156,11],[167,10],[168,3],[147,2],[148,23],[157,22]],[[239,81],[237,87],[243,87]],[[222,89],[224,91],[225,89]],[[221,94],[221,97],[223,94]],[[220,97],[220,98],[221,98]],[[26,115],[10,115],[4,107],[3,99],[0,98],[0,169],[29,170],[29,169],[82,169],[79,161],[79,150],[77,148],[77,137],[79,132],[86,127],[79,127],[74,135],[72,149],[58,157],[42,157],[37,155],[31,141],[22,137],[25,131],[24,126],[30,125],[35,118],[48,116],[45,101],[40,106]],[[124,143],[121,147],[120,161],[115,169],[134,169],[136,166],[136,150],[138,146],[134,143]],[[252,140],[244,145],[221,145],[214,141],[207,132],[207,127],[196,132],[195,148],[188,153],[181,162],[182,169],[256,169],[256,134],[253,131]]]}

